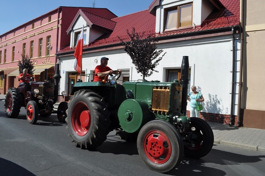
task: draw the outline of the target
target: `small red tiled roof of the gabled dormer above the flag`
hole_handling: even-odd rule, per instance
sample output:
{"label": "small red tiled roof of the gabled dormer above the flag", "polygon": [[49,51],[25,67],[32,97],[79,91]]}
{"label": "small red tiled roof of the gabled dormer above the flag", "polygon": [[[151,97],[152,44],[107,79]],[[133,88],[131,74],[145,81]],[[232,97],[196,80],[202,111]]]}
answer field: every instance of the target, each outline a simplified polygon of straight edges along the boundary
{"label": "small red tiled roof of the gabled dormer above the flag", "polygon": [[90,12],[86,12],[84,10],[82,10],[82,12],[91,21],[92,25],[97,25],[97,26],[100,26],[100,27],[108,29],[108,30],[114,30],[114,27],[116,24],[115,21],[112,21],[112,20],[109,20],[107,18],[95,15],[95,14],[90,13]]}

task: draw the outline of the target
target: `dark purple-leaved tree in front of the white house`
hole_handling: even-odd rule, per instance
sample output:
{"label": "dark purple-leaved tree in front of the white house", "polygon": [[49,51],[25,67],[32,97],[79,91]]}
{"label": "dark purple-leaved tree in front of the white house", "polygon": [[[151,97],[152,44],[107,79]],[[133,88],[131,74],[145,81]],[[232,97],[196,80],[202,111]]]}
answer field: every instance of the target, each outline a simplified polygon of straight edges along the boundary
{"label": "dark purple-leaved tree in front of the white house", "polygon": [[119,36],[118,38],[124,46],[124,51],[131,57],[137,73],[141,73],[143,80],[145,80],[145,77],[151,76],[153,72],[158,72],[155,68],[166,52],[159,57],[163,50],[156,50],[157,39],[151,34],[146,35],[145,32],[137,33],[135,28],[133,28],[131,33],[127,29],[126,33],[130,41],[125,41],[126,39],[122,39]]}

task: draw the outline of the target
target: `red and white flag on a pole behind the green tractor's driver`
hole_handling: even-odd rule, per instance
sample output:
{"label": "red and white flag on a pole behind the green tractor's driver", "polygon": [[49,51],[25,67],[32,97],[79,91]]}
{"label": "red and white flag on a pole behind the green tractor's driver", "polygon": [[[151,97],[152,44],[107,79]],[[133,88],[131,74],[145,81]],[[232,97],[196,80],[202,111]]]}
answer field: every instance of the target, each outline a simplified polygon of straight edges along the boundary
{"label": "red and white flag on a pole behind the green tractor's driver", "polygon": [[81,64],[82,64],[82,53],[83,53],[83,31],[84,31],[84,26],[82,28],[81,34],[79,36],[78,42],[77,42],[77,47],[74,53],[75,59],[75,65],[74,69],[81,74]]}

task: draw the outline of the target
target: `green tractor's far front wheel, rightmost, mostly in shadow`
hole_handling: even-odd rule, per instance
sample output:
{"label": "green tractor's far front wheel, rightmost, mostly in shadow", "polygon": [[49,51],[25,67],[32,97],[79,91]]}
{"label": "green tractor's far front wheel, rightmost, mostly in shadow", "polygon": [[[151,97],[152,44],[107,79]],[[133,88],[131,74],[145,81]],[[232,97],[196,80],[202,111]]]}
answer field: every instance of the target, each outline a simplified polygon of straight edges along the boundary
{"label": "green tractor's far front wheel, rightmost, mostly in shadow", "polygon": [[191,117],[189,132],[198,135],[193,145],[184,146],[184,155],[191,158],[201,158],[207,155],[213,146],[214,136],[212,128],[203,119]]}

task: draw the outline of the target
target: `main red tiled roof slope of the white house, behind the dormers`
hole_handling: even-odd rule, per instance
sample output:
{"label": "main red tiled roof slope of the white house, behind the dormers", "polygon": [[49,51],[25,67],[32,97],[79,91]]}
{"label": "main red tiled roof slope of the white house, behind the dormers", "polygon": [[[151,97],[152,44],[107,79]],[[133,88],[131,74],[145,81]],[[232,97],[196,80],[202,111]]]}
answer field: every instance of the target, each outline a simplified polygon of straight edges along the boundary
{"label": "main red tiled roof slope of the white house, behind the dormers", "polygon": [[[214,10],[200,26],[183,30],[163,32],[156,35],[156,37],[178,35],[239,25],[240,0],[220,0],[220,2],[225,8],[223,8],[221,11]],[[83,49],[105,46],[109,44],[118,44],[120,43],[120,40],[117,36],[120,36],[123,39],[128,38],[126,29],[131,31],[133,27],[135,28],[136,32],[155,34],[156,16],[151,15],[149,10],[117,17],[112,19],[112,21],[116,22],[116,25],[111,33],[102,35],[96,41],[85,45]],[[58,51],[58,53],[70,52],[74,50],[75,48],[70,48],[68,46]]]}

